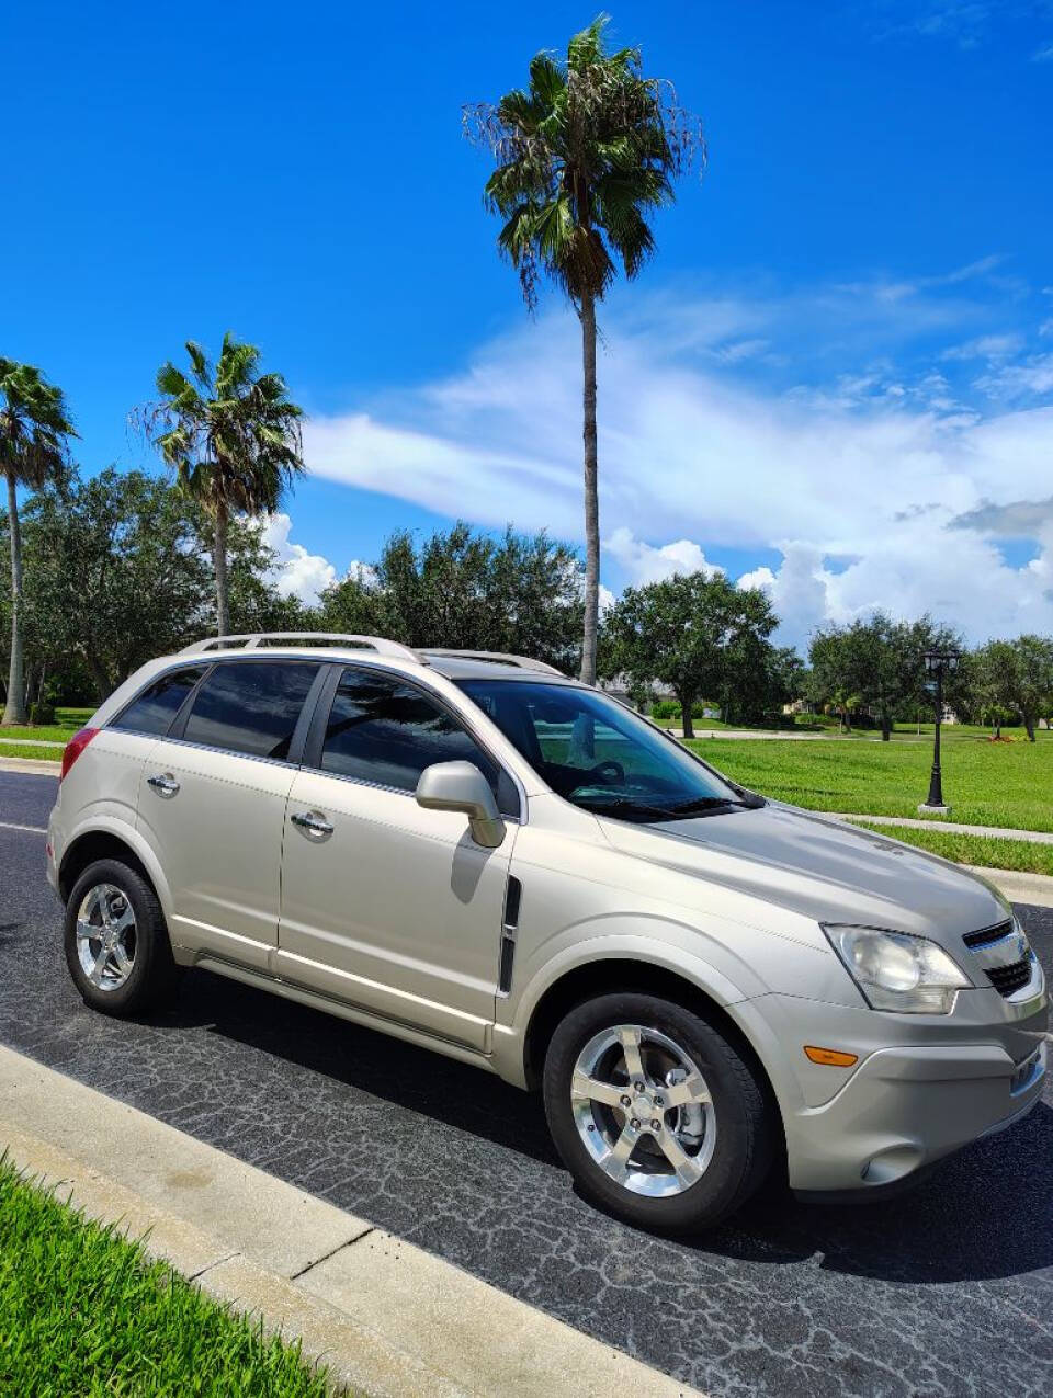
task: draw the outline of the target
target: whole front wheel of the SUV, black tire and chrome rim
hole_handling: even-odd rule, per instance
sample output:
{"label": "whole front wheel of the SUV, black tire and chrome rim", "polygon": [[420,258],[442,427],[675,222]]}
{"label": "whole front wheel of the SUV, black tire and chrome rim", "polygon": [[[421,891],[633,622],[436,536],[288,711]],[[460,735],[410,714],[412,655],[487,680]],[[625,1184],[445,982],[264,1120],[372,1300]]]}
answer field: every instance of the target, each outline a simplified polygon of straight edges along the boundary
{"label": "whole front wheel of the SUV, black tire and chrome rim", "polygon": [[642,1227],[712,1226],[776,1153],[758,1069],[705,1019],[653,995],[572,1009],[548,1046],[544,1099],[582,1192]]}

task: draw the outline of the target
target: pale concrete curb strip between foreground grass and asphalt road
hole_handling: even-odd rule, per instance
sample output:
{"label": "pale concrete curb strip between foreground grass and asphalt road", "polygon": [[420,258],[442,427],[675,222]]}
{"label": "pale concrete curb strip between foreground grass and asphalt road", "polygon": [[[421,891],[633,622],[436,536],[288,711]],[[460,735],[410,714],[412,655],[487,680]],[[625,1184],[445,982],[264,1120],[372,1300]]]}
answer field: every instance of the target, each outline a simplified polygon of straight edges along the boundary
{"label": "pale concrete curb strip between foreground grass and asphalt road", "polygon": [[376,1398],[695,1390],[418,1247],[0,1047],[0,1149]]}

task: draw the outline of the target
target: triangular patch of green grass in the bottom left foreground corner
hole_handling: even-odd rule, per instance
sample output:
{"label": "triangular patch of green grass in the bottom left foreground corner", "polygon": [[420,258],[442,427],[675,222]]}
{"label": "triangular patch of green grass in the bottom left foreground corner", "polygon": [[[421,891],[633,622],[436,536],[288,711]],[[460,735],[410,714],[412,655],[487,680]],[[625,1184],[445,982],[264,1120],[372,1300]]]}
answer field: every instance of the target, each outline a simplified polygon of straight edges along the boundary
{"label": "triangular patch of green grass in the bottom left foreground corner", "polygon": [[298,1343],[262,1332],[137,1243],[0,1159],[0,1392],[324,1398]]}

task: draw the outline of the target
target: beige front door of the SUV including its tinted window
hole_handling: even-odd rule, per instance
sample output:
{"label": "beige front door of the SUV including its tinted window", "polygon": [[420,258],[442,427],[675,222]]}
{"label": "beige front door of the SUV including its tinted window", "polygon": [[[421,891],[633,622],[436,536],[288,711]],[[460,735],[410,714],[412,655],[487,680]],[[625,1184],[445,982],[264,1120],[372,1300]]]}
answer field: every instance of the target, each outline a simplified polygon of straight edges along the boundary
{"label": "beige front door of the SUV including its tinted window", "polygon": [[[467,759],[513,819],[481,849],[463,815],[414,793]],[[519,797],[431,692],[345,667],[289,790],[275,965],[373,1014],[488,1051]]]}

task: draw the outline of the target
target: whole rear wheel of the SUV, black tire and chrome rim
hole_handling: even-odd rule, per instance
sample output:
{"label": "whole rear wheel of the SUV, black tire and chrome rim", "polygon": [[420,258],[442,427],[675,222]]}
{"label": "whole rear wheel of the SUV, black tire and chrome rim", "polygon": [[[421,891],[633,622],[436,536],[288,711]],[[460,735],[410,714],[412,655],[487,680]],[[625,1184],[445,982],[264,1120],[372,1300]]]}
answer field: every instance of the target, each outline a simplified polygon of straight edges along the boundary
{"label": "whole rear wheel of the SUV, black tire and chrome rim", "polygon": [[138,1015],[175,988],[165,916],[138,870],[98,860],[66,902],[66,965],[84,1002],[106,1015]]}

